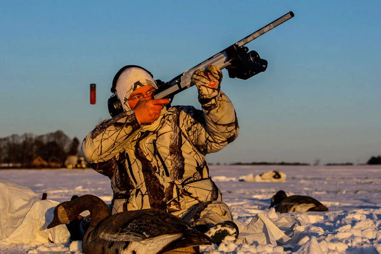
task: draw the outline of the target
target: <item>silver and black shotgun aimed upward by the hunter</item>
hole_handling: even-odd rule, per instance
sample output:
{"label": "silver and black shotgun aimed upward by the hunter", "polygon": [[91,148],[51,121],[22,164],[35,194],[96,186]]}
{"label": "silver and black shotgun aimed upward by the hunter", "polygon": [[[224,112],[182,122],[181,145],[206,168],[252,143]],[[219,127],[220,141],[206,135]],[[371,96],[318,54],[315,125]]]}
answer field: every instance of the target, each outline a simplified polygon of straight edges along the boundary
{"label": "silver and black shotgun aimed upward by the hunter", "polygon": [[260,72],[264,72],[267,68],[267,61],[265,59],[261,59],[256,51],[248,52],[248,48],[244,47],[244,45],[257,39],[269,30],[291,19],[292,17],[294,17],[293,12],[289,12],[281,16],[223,51],[220,51],[219,53],[199,63],[197,66],[185,71],[165,83],[161,80],[156,80],[159,88],[155,91],[153,98],[169,98],[172,101],[175,94],[193,85],[191,82],[192,75],[196,70],[206,70],[209,65],[214,65],[220,70],[226,68],[230,78],[239,78],[244,80]]}

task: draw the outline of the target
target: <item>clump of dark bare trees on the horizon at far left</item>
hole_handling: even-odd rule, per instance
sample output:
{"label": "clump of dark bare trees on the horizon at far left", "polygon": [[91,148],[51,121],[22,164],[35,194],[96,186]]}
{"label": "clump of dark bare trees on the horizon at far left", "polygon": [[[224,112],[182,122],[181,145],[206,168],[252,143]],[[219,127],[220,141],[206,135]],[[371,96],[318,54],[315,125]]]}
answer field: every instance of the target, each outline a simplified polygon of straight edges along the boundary
{"label": "clump of dark bare trees on the horizon at far left", "polygon": [[79,140],[71,140],[62,131],[35,137],[24,134],[0,139],[0,166],[33,168],[40,158],[51,165],[62,167],[69,155],[78,155]]}

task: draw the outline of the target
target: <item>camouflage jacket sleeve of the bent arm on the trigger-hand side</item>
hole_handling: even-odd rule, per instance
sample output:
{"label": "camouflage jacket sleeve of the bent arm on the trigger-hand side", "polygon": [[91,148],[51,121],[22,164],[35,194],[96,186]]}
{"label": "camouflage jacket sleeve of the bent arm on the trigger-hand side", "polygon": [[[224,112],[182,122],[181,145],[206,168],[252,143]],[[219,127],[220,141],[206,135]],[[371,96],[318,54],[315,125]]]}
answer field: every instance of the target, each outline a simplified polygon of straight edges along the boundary
{"label": "camouflage jacket sleeve of the bent arm on the trigger-hand side", "polygon": [[[95,170],[98,166],[115,162],[119,152],[133,140],[139,129],[140,125],[133,110],[103,121],[82,142],[86,162]],[[101,169],[97,171],[100,172]],[[106,172],[100,173],[110,175]]]}

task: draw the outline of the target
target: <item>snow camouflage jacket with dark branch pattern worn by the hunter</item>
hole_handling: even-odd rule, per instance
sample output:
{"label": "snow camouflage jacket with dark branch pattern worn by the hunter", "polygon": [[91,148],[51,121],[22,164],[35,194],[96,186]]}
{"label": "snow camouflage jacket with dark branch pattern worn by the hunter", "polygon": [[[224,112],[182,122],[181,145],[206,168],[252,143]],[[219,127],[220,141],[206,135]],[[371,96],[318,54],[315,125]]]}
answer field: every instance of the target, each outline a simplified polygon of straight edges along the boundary
{"label": "snow camouflage jacket with dark branch pattern worn by the hunter", "polygon": [[148,125],[141,126],[133,110],[120,113],[90,132],[82,149],[91,167],[111,179],[112,213],[155,208],[180,215],[222,201],[205,154],[234,141],[238,129],[233,104],[219,90],[202,110],[164,108]]}

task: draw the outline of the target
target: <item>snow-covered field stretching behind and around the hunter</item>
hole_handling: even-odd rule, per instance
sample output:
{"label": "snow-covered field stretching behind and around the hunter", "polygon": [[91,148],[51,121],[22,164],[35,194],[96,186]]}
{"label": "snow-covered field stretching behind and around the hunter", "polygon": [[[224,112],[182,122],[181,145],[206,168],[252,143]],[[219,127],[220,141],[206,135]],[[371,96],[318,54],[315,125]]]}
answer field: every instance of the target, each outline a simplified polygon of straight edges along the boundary
{"label": "snow-covered field stretching behind and around the hunter", "polygon": [[[247,182],[240,177],[279,170],[285,182]],[[295,217],[293,248],[272,244],[221,244],[202,247],[203,253],[381,253],[381,166],[210,166],[210,174],[233,209],[234,219],[247,225],[256,214],[272,221]],[[110,181],[92,170],[1,170],[0,178],[28,186],[38,195],[63,202],[72,195],[93,194],[112,199]],[[283,189],[288,195],[311,196],[328,212],[277,214],[270,199]],[[0,246],[0,254],[81,253],[63,244]]]}

